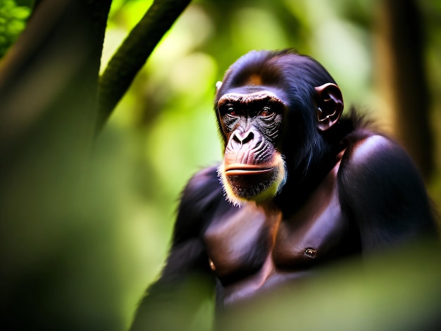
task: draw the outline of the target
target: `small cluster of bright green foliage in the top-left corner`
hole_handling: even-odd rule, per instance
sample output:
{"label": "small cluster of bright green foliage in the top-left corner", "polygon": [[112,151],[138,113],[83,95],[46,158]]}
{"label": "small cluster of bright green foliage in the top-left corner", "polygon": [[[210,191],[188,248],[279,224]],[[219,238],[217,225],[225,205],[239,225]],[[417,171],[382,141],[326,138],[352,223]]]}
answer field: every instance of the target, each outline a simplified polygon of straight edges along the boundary
{"label": "small cluster of bright green foliage in the top-left corner", "polygon": [[25,28],[30,15],[30,8],[19,4],[19,1],[0,0],[0,58]]}

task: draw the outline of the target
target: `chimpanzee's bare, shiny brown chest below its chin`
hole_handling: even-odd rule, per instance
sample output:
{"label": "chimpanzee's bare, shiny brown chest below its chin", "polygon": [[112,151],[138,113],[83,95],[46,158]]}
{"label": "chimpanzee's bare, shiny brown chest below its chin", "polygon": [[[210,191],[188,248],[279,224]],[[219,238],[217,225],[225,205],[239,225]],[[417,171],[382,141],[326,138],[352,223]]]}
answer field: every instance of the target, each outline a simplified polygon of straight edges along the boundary
{"label": "chimpanzee's bare, shiny brown chest below its chin", "polygon": [[216,212],[204,235],[207,263],[225,289],[246,296],[345,254],[347,230],[330,174],[290,218],[251,202]]}

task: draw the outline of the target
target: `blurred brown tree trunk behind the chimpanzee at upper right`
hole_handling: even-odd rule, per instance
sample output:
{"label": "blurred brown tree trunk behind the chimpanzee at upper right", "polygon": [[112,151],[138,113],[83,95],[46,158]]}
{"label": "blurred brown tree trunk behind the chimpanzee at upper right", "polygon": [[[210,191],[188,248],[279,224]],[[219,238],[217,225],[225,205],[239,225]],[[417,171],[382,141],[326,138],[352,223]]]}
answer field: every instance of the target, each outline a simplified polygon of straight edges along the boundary
{"label": "blurred brown tree trunk behind the chimpanzee at upper right", "polygon": [[428,180],[434,161],[421,13],[412,0],[383,0],[378,9],[380,94],[392,112],[395,135]]}

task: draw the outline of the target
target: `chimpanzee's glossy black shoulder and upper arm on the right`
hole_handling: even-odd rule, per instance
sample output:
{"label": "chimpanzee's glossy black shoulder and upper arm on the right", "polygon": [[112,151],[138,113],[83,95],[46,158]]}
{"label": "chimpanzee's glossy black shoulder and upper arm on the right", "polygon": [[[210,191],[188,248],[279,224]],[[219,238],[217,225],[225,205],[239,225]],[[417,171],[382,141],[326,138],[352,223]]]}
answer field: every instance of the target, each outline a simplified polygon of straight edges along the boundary
{"label": "chimpanzee's glossy black shoulder and upper arm on the right", "polygon": [[418,170],[386,137],[374,135],[350,147],[338,184],[342,208],[359,228],[363,251],[437,232]]}

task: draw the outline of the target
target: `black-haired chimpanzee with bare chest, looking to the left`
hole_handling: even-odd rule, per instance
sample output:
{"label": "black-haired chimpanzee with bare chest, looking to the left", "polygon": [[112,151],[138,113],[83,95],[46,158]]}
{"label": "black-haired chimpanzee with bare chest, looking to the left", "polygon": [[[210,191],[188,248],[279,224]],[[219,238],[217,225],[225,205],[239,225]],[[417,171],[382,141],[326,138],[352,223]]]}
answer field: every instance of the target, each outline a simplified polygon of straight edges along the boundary
{"label": "black-haired chimpanzee with bare chest, looking to the left", "polygon": [[313,58],[251,51],[216,88],[223,162],[185,187],[166,266],[132,330],[151,330],[152,302],[192,273],[212,277],[228,308],[325,263],[437,232],[411,158],[355,111],[341,116],[342,92]]}

